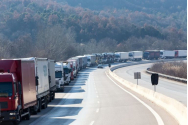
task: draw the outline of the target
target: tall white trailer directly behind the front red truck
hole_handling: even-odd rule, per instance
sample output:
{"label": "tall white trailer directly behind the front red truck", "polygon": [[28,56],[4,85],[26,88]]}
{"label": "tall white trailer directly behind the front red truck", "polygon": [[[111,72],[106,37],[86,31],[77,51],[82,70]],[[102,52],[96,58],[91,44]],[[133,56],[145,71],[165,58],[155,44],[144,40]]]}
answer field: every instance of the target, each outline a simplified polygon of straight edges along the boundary
{"label": "tall white trailer directly behind the front red truck", "polygon": [[38,111],[41,108],[47,108],[50,96],[49,88],[49,73],[48,73],[48,59],[47,58],[22,58],[21,60],[34,60],[35,62],[35,77],[36,77],[36,91],[38,101]]}

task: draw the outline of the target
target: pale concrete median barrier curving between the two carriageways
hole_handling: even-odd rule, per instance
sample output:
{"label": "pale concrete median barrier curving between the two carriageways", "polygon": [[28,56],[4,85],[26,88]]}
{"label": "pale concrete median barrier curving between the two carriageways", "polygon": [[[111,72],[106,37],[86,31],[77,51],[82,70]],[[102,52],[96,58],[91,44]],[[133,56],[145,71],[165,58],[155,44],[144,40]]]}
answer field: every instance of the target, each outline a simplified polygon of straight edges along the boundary
{"label": "pale concrete median barrier curving between the two carriageways", "polygon": [[[165,60],[165,62],[167,61],[177,61],[177,60]],[[113,72],[115,69],[126,67],[126,66],[146,64],[146,63],[155,63],[155,62],[159,62],[159,61],[145,61],[145,62],[143,61],[143,62],[133,63],[133,64],[122,64],[122,65],[118,65],[118,66],[114,66],[110,68],[108,72],[111,77],[113,77],[115,80],[117,80],[119,83],[121,83],[125,87],[133,90],[134,92],[144,96],[145,98],[151,100],[158,106],[162,107],[172,117],[174,117],[180,125],[187,125],[187,107],[184,104],[178,102],[177,100],[173,98],[165,96],[161,93],[154,92],[153,90],[131,83],[117,76]]]}

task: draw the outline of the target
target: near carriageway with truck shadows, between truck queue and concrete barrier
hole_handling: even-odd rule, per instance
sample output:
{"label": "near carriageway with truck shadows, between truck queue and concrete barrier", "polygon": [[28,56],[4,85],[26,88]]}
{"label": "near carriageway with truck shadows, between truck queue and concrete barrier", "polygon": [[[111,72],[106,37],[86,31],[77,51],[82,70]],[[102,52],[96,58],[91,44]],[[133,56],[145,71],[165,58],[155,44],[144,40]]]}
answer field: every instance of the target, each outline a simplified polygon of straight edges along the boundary
{"label": "near carriageway with truck shadows, between truck queue and concrete barrier", "polygon": [[21,125],[178,125],[162,108],[134,93],[103,69],[82,70],[48,108]]}

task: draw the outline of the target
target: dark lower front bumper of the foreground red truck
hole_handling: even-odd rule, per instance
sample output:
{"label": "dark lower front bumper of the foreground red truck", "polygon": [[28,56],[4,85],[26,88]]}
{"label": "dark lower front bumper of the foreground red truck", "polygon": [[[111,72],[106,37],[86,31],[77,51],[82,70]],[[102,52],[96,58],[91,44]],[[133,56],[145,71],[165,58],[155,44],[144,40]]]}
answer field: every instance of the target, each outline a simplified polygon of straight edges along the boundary
{"label": "dark lower front bumper of the foreground red truck", "polygon": [[0,115],[0,122],[3,121],[15,121],[17,119],[17,112],[15,111],[3,111]]}

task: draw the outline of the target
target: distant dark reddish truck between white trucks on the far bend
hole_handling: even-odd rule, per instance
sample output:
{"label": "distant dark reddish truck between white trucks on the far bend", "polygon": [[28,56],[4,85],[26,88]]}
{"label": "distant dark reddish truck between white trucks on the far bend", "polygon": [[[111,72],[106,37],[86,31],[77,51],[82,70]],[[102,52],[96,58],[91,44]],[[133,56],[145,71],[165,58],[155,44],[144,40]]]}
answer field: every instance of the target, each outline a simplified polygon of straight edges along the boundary
{"label": "distant dark reddish truck between white trucks on the far bend", "polygon": [[160,51],[159,50],[146,50],[143,54],[143,59],[146,60],[153,60],[160,58]]}

